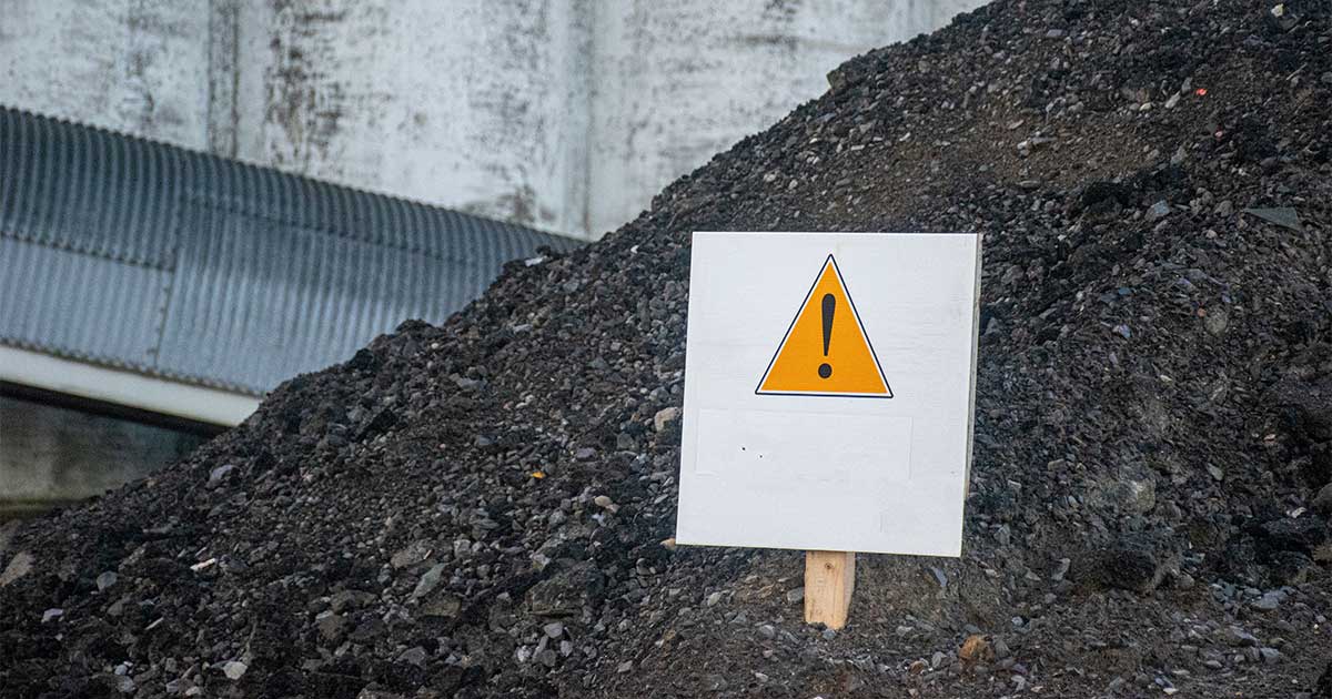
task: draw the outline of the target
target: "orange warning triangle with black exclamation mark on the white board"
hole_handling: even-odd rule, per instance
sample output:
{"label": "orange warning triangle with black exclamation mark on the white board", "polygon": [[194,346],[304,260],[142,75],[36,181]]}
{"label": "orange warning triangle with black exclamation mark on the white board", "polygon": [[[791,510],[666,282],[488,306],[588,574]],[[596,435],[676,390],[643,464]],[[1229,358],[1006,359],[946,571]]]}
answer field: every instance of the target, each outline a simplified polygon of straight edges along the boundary
{"label": "orange warning triangle with black exclamation mark on the white board", "polygon": [[754,393],[892,398],[831,254]]}

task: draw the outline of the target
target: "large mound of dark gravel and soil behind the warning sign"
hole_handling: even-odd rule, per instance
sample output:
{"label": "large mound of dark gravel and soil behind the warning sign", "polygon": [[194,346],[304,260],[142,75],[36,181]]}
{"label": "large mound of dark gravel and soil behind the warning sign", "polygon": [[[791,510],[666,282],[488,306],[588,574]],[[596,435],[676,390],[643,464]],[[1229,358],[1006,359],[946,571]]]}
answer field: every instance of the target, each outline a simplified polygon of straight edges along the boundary
{"label": "large mound of dark gravel and soil behind the warning sign", "polygon": [[[603,242],[27,525],[0,694],[1325,695],[1332,5],[1273,5],[1002,0],[848,63]],[[862,557],[840,632],[799,553],[661,543],[699,229],[986,234],[964,557]]]}

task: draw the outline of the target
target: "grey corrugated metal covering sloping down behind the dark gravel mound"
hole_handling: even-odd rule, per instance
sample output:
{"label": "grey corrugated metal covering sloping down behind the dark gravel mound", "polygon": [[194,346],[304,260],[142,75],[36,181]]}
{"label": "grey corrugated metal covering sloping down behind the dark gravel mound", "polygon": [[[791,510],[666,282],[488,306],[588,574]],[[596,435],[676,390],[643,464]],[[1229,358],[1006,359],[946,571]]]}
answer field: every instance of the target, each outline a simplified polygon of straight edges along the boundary
{"label": "grey corrugated metal covering sloping down behind the dark gravel mound", "polygon": [[566,238],[0,108],[0,344],[262,393]]}

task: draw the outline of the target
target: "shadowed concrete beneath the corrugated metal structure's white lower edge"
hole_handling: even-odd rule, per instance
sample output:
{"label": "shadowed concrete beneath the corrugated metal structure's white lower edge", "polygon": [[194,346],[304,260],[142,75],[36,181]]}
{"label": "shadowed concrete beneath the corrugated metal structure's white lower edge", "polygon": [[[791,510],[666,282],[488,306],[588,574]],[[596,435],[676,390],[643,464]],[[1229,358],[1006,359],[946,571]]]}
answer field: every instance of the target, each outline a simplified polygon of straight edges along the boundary
{"label": "shadowed concrete beneath the corrugated metal structure's white lower edge", "polygon": [[0,519],[89,495],[178,459],[196,434],[0,397]]}

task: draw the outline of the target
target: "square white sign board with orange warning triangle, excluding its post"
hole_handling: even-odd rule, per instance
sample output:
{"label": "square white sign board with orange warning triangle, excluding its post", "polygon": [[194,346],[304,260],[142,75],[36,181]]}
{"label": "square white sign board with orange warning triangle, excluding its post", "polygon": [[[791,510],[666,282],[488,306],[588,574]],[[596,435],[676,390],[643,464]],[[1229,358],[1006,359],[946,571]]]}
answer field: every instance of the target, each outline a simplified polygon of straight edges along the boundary
{"label": "square white sign board with orange warning triangle, excluding its post", "polygon": [[695,233],[682,545],[960,555],[979,234]]}

